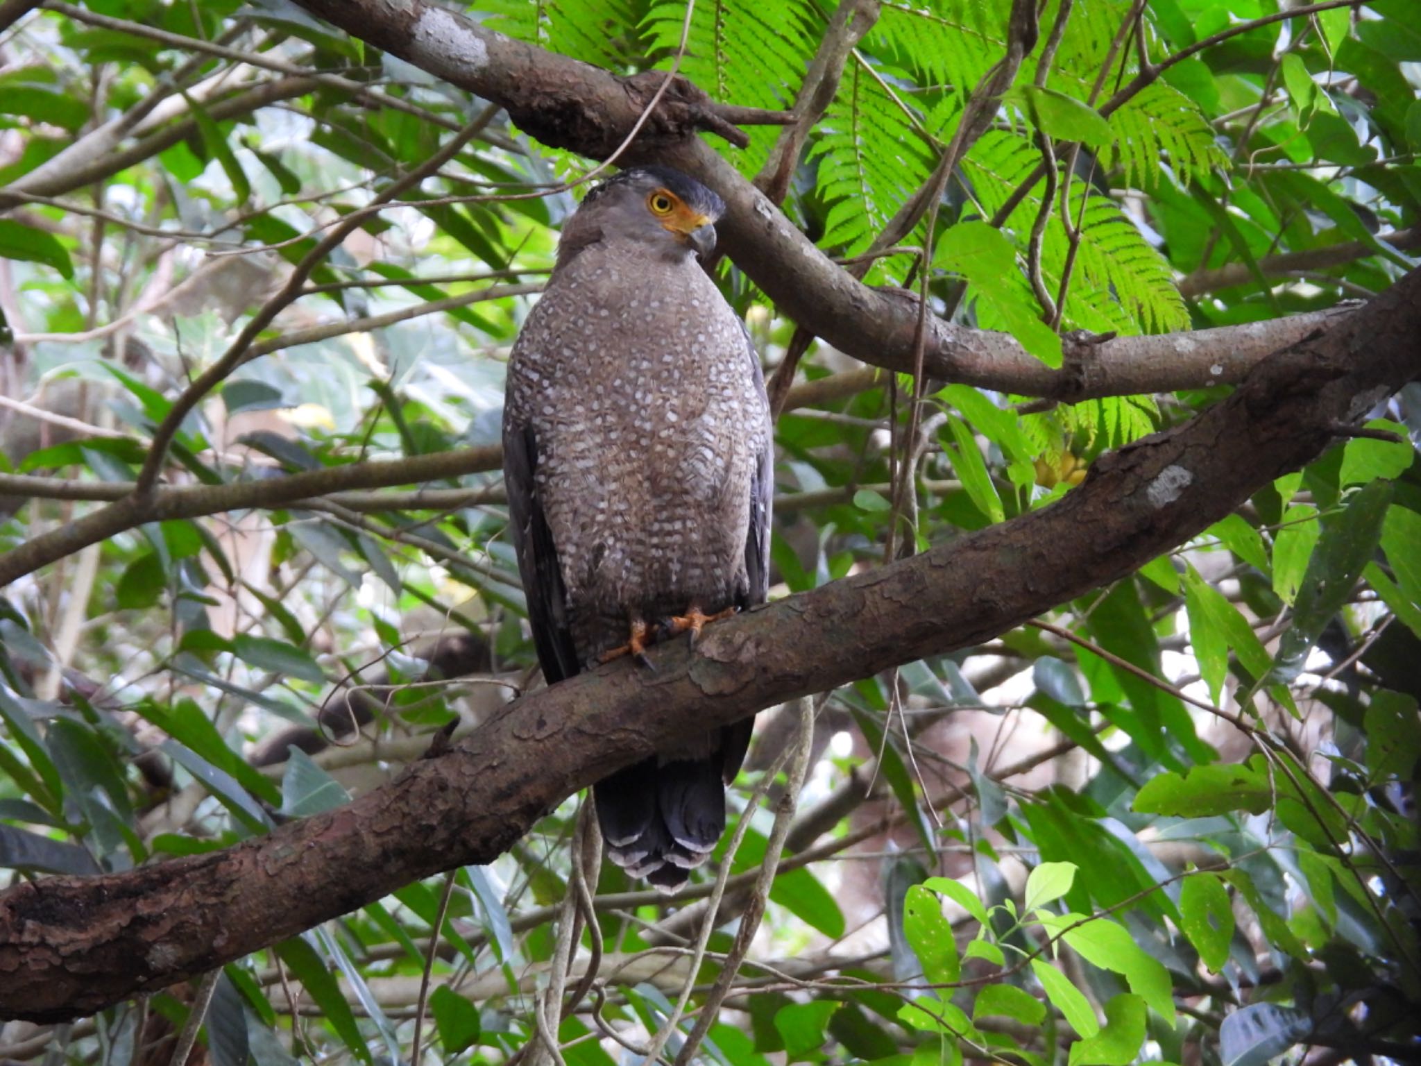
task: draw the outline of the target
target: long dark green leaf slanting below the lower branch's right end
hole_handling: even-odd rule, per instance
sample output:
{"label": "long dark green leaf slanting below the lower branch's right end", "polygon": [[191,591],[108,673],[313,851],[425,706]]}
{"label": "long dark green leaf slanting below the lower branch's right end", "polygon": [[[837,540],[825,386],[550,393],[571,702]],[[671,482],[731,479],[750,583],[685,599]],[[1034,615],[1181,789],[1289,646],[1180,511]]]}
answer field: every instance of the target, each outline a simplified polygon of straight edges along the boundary
{"label": "long dark green leaf slanting below the lower branch's right end", "polygon": [[[1390,503],[1391,483],[1374,482],[1351,496],[1343,513],[1324,526],[1297,593],[1293,624],[1279,641],[1273,667],[1276,679],[1287,682],[1302,672],[1323,627],[1351,598],[1353,586],[1381,539],[1381,523]],[[1412,553],[1417,554],[1421,553]]]}

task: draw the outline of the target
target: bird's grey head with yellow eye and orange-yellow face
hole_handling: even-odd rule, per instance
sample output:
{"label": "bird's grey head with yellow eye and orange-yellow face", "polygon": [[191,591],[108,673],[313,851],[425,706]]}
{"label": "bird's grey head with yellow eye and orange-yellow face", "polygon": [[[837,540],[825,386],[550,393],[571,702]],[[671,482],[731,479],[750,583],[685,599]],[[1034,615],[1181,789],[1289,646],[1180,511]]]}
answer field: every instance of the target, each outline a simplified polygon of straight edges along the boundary
{"label": "bird's grey head with yellow eye and orange-yellow face", "polygon": [[563,230],[558,259],[597,239],[645,243],[668,259],[715,250],[725,200],[669,166],[634,166],[598,185]]}

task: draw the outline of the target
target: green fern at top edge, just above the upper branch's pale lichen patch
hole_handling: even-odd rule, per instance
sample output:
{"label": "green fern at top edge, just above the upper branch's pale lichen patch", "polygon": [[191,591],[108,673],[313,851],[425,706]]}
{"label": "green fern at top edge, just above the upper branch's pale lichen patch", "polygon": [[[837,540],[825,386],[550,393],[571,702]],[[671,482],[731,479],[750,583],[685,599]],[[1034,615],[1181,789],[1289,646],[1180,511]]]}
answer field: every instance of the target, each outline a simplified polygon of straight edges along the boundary
{"label": "green fern at top edge, just above the upper branch's pale lichen patch", "polygon": [[598,67],[621,67],[632,57],[635,0],[479,0],[487,26],[541,48]]}

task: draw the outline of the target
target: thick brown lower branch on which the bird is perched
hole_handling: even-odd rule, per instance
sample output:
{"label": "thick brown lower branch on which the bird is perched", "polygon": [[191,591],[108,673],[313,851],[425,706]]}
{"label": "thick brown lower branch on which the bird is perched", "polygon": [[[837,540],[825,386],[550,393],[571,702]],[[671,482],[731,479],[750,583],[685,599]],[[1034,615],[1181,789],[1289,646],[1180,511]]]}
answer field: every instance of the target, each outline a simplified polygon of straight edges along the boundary
{"label": "thick brown lower branch on which the bird is perched", "polygon": [[1189,422],[1103,456],[1064,499],[510,704],[450,753],[223,851],[0,895],[0,1013],[64,1021],[487,863],[556,803],[679,736],[979,644],[1199,533],[1421,374],[1421,270],[1265,360]]}

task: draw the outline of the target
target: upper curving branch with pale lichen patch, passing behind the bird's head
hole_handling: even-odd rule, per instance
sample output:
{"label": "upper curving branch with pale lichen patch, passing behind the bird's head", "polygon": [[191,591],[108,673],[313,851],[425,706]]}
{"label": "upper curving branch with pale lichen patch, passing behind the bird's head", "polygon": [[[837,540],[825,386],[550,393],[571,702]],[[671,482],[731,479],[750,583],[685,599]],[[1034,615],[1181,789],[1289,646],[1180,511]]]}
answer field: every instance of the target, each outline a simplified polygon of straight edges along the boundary
{"label": "upper curving branch with pale lichen patch, passing behind the bird's head", "polygon": [[[1351,1],[1351,0],[1349,0]],[[502,104],[539,141],[604,158],[631,129],[649,91],[641,78],[513,41],[425,0],[298,0],[354,37]],[[658,75],[662,77],[662,75]],[[657,82],[659,84],[659,82]],[[716,105],[688,82],[664,101],[624,152],[699,178],[726,200],[722,249],[786,316],[840,351],[912,372],[917,301],[857,281],[833,263],[763,192],[695,136]],[[1317,328],[1320,316],[1249,323],[1195,334],[1128,337],[1071,351],[1052,370],[1012,337],[928,317],[924,372],[1002,392],[1079,401],[1236,384],[1268,352]],[[1070,358],[1074,354],[1079,358]]]}

